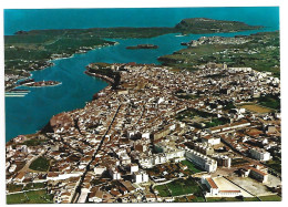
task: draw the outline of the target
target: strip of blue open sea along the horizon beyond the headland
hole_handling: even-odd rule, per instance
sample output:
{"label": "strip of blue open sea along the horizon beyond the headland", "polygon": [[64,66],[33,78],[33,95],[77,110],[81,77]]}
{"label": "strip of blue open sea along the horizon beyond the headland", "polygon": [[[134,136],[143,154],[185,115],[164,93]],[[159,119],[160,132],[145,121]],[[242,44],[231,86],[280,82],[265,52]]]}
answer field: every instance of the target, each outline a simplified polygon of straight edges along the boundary
{"label": "strip of blue open sea along the horizon beyond the headland", "polygon": [[174,27],[185,18],[235,20],[277,28],[279,8],[6,9],[4,34],[35,29]]}

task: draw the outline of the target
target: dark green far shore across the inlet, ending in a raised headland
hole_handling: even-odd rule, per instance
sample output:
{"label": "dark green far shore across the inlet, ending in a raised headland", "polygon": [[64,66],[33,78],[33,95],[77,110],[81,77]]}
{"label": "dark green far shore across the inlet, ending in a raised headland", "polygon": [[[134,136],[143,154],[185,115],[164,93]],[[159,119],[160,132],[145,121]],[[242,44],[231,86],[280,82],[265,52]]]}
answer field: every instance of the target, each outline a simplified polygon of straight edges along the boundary
{"label": "dark green far shore across the inlet, ending in a raised headland", "polygon": [[115,42],[105,38],[153,38],[167,33],[217,33],[257,30],[238,21],[193,18],[182,20],[174,28],[92,28],[63,30],[18,31],[4,37],[6,90],[17,86],[17,81],[30,76],[30,71],[51,66],[58,58],[68,58]]}

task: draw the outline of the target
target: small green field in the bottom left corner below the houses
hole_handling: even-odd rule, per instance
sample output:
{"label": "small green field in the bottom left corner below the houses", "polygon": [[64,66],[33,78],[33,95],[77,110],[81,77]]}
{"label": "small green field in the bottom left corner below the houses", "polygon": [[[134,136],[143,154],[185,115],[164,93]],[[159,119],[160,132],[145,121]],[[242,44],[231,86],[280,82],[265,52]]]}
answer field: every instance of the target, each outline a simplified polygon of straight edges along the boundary
{"label": "small green field in the bottom left corner below the houses", "polygon": [[[27,196],[25,196],[27,195]],[[7,196],[7,204],[52,204],[52,195],[44,189],[28,192],[24,194],[12,194]]]}

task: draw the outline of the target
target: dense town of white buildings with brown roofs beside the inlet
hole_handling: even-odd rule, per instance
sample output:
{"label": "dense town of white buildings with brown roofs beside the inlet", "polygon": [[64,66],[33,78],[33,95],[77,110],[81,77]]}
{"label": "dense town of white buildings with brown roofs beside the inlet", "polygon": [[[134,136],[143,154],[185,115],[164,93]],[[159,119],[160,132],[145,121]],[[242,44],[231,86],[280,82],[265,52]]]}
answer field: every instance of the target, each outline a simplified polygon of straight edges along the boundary
{"label": "dense town of white buildings with brown roofs beside the inlet", "polygon": [[[83,108],[54,115],[48,132],[32,136],[39,146],[28,146],[27,136],[7,145],[7,184],[45,183],[54,203],[141,203],[162,199],[147,186],[202,174],[210,176],[198,178],[207,196],[241,195],[215,184],[220,169],[268,182],[268,172],[253,166],[279,156],[280,116],[241,105],[256,94],[279,95],[278,77],[214,63],[193,72],[109,68],[121,74],[116,90],[107,86]],[[51,162],[49,172],[32,178],[19,172],[39,155]]]}

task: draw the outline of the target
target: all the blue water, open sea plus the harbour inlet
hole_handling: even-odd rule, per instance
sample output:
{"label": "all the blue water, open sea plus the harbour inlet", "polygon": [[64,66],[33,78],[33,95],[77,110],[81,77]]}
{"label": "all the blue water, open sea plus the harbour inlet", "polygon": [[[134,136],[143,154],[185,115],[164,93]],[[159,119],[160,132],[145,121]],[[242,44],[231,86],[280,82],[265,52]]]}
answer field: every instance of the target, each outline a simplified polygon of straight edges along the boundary
{"label": "all the blue water, open sea plus the harbour inlet", "polygon": [[[56,19],[70,13],[70,21],[63,18],[59,23]],[[205,12],[204,12],[205,11]],[[214,11],[214,13],[208,12]],[[86,19],[83,15],[94,14]],[[110,13],[107,19],[101,18]],[[208,13],[206,13],[208,12]],[[142,14],[151,14],[143,18]],[[49,21],[44,18],[50,14]],[[53,14],[53,15],[52,15]],[[124,15],[120,19],[120,14]],[[165,14],[165,18],[163,17]],[[35,19],[35,17],[38,17]],[[111,15],[114,17],[112,21]],[[172,18],[167,18],[167,15]],[[229,18],[230,15],[230,18]],[[128,18],[130,17],[130,18]],[[133,18],[131,18],[133,17]],[[6,34],[12,34],[17,30],[32,29],[59,29],[61,28],[92,28],[92,27],[171,27],[181,19],[191,17],[207,17],[214,19],[227,19],[245,21],[250,24],[260,24],[266,28],[261,31],[275,31],[279,29],[278,8],[189,8],[189,9],[105,9],[105,10],[6,10]],[[254,17],[254,18],[253,18]],[[263,19],[260,19],[261,17]],[[265,18],[264,18],[265,17]],[[19,19],[20,18],[20,19]],[[156,21],[155,18],[158,18]],[[238,19],[237,19],[238,18]],[[19,19],[19,21],[17,21]],[[39,23],[42,19],[45,23]],[[128,21],[127,21],[128,19]],[[19,23],[21,22],[21,23]],[[30,23],[27,23],[30,22]],[[53,22],[56,22],[53,24]],[[69,23],[71,22],[71,23]],[[119,24],[117,24],[119,23]],[[122,24],[121,24],[122,23]],[[64,27],[63,27],[64,25]],[[81,25],[81,27],[80,27]],[[258,30],[259,31],[259,30]],[[234,37],[236,34],[250,34],[258,31],[246,31],[238,33],[217,33],[216,35]],[[62,82],[61,85],[51,87],[29,89],[31,92],[24,97],[6,97],[6,141],[19,134],[31,134],[43,127],[52,115],[63,111],[80,108],[85,102],[91,101],[94,93],[105,87],[107,84],[100,79],[85,75],[85,66],[91,62],[137,62],[156,63],[157,58],[171,54],[182,48],[181,42],[198,39],[204,34],[192,34],[186,37],[175,37],[165,34],[152,39],[126,39],[114,40],[120,44],[96,49],[84,54],[75,54],[70,59],[53,61],[54,66],[42,71],[34,71],[32,77],[35,81],[55,80]],[[215,34],[205,34],[215,35]],[[127,45],[141,43],[152,43],[160,48],[157,50],[126,50]],[[25,89],[25,87],[22,87]]]}

